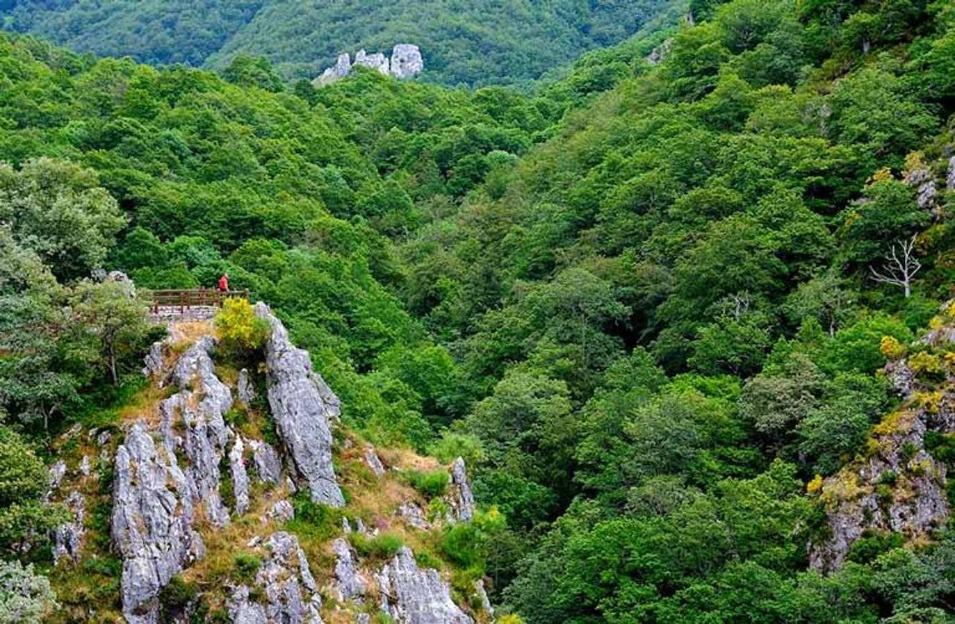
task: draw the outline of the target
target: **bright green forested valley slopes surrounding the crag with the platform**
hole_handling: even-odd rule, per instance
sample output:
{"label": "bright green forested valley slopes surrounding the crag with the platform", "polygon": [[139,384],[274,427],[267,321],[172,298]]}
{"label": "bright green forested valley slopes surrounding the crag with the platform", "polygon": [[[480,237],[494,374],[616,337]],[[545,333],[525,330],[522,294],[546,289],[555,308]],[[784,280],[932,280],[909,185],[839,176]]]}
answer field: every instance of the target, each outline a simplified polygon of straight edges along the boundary
{"label": "bright green forested valley slopes surrounding the crag with the platform", "polygon": [[463,458],[484,515],[417,563],[501,621],[955,621],[955,9],[691,10],[533,94],[0,38],[0,546],[37,602],[89,597],[44,462],[146,391],[102,268],[228,272],[350,438]]}

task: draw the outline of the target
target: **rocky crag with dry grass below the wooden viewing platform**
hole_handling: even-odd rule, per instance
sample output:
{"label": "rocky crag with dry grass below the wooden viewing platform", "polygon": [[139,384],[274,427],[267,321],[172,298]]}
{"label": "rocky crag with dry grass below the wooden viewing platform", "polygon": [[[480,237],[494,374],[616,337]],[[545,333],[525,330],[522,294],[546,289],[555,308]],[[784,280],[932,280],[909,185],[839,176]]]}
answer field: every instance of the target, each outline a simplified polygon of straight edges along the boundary
{"label": "rocky crag with dry grass below the wooden viewing platform", "polygon": [[[269,328],[257,370],[223,368],[212,324],[191,323],[198,338],[167,338],[146,357],[145,397],[155,399],[116,426],[76,426],[64,435],[65,447],[78,450],[51,469],[51,497],[74,514],[54,534],[57,571],[82,577],[85,561],[113,556],[103,549],[119,565],[117,612],[102,599],[74,605],[71,617],[491,621],[480,580],[453,588],[447,570],[416,559],[429,540],[401,509],[416,509],[424,522],[429,506],[403,481],[408,451],[375,449],[337,426],[338,398],[308,352],[290,342],[265,304],[255,314]],[[412,466],[423,462],[415,457]],[[467,522],[475,508],[463,460],[432,466],[447,469],[449,488],[437,506],[447,511],[429,512],[427,530]],[[91,509],[101,516],[103,508],[108,540],[91,518]],[[333,530],[316,529],[325,516],[338,518]],[[403,545],[384,558],[364,546],[384,537]],[[426,560],[437,562],[434,554]]]}

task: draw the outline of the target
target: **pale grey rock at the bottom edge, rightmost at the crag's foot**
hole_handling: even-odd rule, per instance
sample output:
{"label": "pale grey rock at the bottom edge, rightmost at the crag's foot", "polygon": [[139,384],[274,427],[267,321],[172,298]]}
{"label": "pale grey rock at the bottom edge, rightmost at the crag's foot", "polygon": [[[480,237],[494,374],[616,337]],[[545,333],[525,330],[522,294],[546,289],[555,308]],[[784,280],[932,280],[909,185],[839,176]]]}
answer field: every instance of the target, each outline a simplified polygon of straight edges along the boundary
{"label": "pale grey rock at the bottom edge, rightmost at the crag's foot", "polygon": [[414,552],[402,548],[377,575],[381,610],[400,624],[473,624],[451,599],[436,570],[418,568]]}

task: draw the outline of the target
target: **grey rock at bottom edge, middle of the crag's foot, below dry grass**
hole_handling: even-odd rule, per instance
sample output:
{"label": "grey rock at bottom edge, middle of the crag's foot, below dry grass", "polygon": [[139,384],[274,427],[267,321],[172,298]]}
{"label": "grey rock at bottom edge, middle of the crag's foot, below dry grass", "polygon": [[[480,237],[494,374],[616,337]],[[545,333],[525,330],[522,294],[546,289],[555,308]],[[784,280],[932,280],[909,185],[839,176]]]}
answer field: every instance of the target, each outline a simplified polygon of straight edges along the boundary
{"label": "grey rock at bottom edge, middle of the crag's foot, below dry grass", "polygon": [[260,546],[267,553],[255,584],[265,604],[253,600],[249,588],[232,590],[227,602],[234,624],[321,624],[322,599],[308,569],[308,559],[295,536],[279,531]]}

